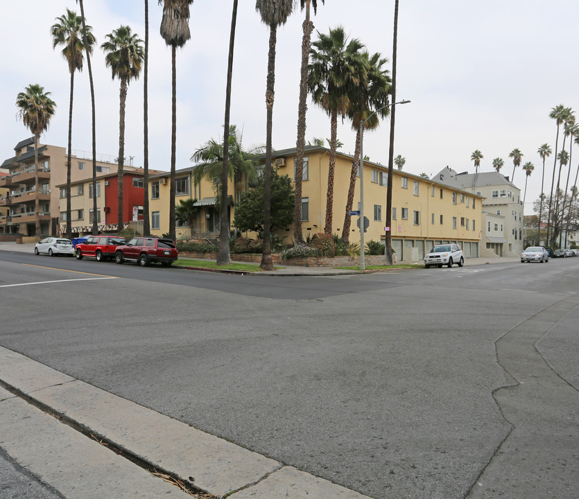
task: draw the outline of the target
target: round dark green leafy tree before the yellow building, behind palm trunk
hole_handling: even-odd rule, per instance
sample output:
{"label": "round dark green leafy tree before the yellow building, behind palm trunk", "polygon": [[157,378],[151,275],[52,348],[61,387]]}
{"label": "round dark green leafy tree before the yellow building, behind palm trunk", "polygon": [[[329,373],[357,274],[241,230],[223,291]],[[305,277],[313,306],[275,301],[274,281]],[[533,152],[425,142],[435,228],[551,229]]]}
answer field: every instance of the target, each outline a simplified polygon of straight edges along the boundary
{"label": "round dark green leafy tree before the yellow building, behind palm trunk", "polygon": [[[265,198],[266,179],[264,175],[250,183],[250,190],[241,193],[235,209],[233,225],[241,231],[256,231],[265,235],[263,198]],[[271,173],[271,217],[269,229],[284,229],[293,222],[295,192],[288,175],[279,175],[276,168]],[[265,241],[264,241],[265,243]]]}

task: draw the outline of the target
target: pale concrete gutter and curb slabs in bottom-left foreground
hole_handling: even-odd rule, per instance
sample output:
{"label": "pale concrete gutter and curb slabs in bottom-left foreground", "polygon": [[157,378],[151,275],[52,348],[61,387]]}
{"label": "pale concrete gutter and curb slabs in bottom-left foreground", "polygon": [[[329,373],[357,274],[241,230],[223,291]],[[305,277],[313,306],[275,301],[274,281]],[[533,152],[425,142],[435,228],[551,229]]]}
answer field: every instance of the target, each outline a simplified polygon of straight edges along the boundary
{"label": "pale concrete gutter and curb slabs in bottom-left foreground", "polygon": [[70,499],[187,496],[28,399],[217,497],[365,498],[2,347],[0,381],[0,446]]}

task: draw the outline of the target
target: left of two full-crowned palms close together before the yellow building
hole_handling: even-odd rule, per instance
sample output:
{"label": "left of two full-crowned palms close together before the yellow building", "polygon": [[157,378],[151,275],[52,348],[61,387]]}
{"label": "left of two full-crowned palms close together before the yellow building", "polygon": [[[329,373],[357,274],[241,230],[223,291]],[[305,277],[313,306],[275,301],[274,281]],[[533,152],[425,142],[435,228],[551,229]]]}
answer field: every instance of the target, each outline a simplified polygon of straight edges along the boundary
{"label": "left of two full-crowned palms close together before the yellow building", "polygon": [[350,40],[343,27],[330,29],[328,35],[318,31],[313,42],[311,63],[308,67],[308,87],[313,102],[320,105],[330,116],[331,140],[328,168],[328,194],[324,232],[332,233],[334,208],[334,169],[336,168],[336,144],[338,141],[338,114],[345,116],[349,109],[349,94],[359,85],[364,74],[361,49],[363,44]]}

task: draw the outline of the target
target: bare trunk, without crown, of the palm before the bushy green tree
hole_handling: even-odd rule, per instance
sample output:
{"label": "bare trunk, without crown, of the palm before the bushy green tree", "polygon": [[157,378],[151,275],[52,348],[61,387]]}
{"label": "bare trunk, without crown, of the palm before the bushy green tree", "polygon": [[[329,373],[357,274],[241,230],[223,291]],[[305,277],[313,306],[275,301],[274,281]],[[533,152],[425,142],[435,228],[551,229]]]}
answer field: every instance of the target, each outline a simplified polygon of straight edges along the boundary
{"label": "bare trunk, without crown, of the palm before the bushy green tree", "polygon": [[263,193],[263,247],[261,249],[261,270],[273,270],[271,259],[271,135],[273,129],[273,99],[275,88],[275,44],[277,42],[277,26],[270,25],[270,40],[268,51],[268,80],[266,88],[267,107],[267,138],[266,138],[266,168],[264,171]]}

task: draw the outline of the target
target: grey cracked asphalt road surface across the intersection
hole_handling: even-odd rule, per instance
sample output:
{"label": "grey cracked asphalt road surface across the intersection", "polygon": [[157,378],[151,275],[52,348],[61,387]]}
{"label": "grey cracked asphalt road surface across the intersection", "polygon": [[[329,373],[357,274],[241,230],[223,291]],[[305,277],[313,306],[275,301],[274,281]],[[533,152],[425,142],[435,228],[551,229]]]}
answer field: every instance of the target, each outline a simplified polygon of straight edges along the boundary
{"label": "grey cracked asphalt road surface across the intersection", "polygon": [[368,496],[571,499],[578,279],[579,259],[271,277],[0,252],[0,345]]}

